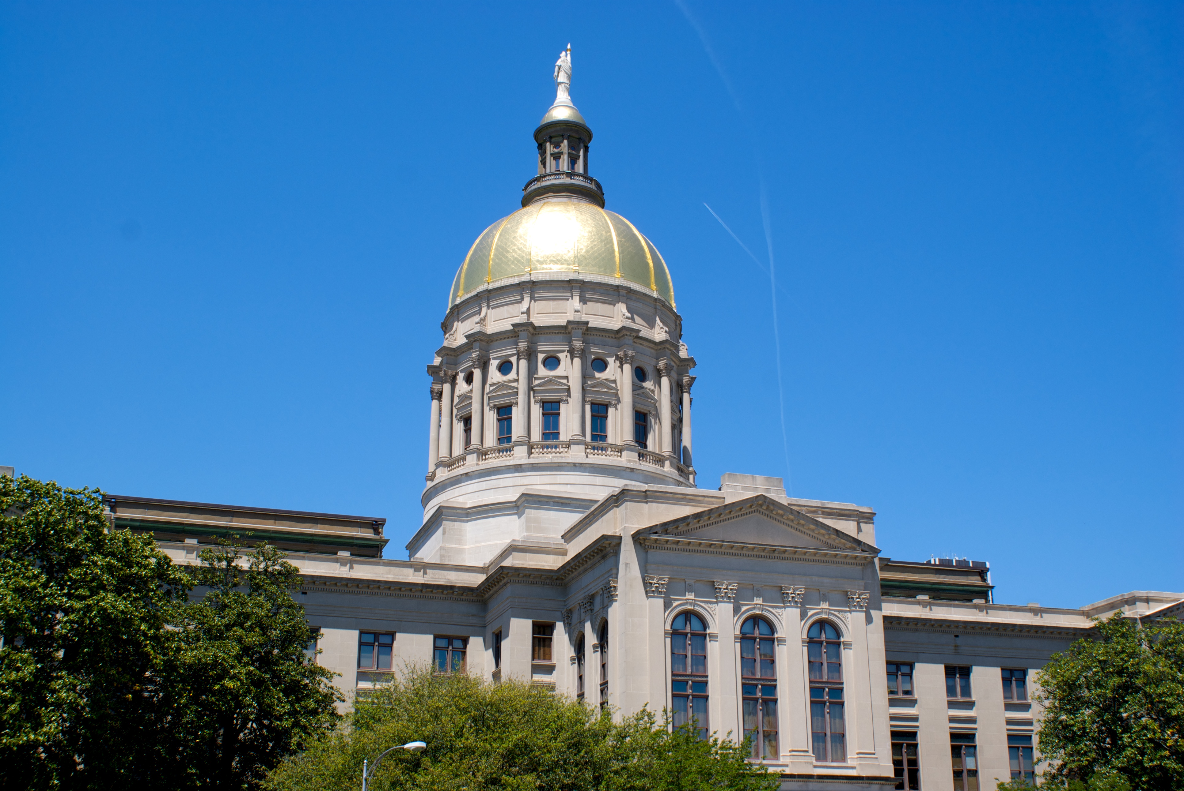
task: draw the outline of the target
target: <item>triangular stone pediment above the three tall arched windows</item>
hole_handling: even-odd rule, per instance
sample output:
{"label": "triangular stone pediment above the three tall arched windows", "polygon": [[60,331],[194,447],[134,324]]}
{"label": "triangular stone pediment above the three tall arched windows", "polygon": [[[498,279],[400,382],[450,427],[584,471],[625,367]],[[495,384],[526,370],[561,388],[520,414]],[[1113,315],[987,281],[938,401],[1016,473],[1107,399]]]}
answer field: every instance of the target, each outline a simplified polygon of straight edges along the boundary
{"label": "triangular stone pediment above the three tall arched windows", "polygon": [[843,531],[764,494],[644,527],[638,537],[879,555]]}

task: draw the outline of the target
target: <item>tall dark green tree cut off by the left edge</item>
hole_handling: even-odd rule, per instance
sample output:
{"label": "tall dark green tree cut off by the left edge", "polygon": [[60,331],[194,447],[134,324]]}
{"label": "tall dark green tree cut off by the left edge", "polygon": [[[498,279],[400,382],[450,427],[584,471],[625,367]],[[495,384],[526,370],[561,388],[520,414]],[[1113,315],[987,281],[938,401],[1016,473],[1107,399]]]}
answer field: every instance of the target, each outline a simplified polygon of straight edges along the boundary
{"label": "tall dark green tree cut off by the left edge", "polygon": [[0,786],[155,785],[188,577],[98,489],[0,478]]}

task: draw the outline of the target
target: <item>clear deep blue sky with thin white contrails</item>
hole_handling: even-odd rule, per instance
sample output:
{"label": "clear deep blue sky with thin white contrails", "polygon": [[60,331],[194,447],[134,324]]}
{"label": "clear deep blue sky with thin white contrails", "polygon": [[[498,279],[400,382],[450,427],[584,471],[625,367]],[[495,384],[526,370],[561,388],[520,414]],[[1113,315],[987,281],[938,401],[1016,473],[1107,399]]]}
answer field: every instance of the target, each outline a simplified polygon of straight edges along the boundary
{"label": "clear deep blue sky with thin white contrails", "polygon": [[1184,589],[1173,2],[5,2],[0,465],[406,557],[449,285],[568,41],[701,486],[871,506],[999,601]]}

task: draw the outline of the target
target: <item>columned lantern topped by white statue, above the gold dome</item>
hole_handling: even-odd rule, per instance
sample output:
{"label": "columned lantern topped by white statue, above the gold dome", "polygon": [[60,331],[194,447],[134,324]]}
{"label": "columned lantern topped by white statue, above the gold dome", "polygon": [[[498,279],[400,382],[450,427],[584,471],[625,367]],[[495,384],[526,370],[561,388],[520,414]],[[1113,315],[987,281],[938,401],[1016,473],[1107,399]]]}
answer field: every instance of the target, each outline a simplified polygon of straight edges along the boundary
{"label": "columned lantern topped by white statue, above the gold dome", "polygon": [[540,200],[574,200],[604,208],[600,182],[588,175],[592,130],[572,104],[572,45],[559,53],[552,72],[555,101],[534,130],[539,175],[522,188],[522,206]]}

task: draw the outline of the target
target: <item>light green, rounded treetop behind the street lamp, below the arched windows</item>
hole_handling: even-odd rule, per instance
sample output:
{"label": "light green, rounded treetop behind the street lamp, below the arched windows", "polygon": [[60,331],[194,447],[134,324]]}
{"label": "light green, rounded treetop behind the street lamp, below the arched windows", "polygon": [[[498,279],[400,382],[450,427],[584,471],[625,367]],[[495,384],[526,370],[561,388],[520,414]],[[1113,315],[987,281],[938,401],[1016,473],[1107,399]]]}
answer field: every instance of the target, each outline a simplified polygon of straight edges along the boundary
{"label": "light green, rounded treetop behind the street lamp, below the arched windows", "polygon": [[359,699],[348,722],[269,779],[274,791],[359,787],[362,761],[387,747],[374,791],[770,791],[779,778],[745,745],[700,740],[650,712],[613,722],[583,702],[520,681],[490,683],[411,668]]}

